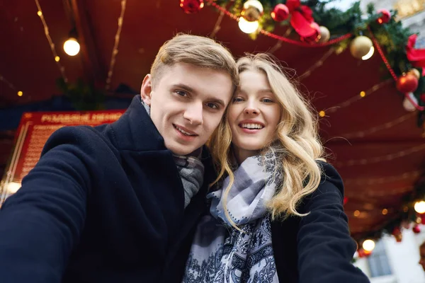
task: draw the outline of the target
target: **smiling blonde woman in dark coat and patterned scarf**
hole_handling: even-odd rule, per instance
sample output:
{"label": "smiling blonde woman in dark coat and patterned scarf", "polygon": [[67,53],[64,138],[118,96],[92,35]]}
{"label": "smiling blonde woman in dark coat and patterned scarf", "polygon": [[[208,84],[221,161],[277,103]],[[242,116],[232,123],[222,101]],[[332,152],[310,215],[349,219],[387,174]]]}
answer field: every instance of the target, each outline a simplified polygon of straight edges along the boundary
{"label": "smiling blonde woman in dark coat and patterned scarf", "polygon": [[183,282],[369,282],[351,264],[344,187],[307,102],[266,54],[237,65],[240,87],[210,140],[220,168],[210,214]]}

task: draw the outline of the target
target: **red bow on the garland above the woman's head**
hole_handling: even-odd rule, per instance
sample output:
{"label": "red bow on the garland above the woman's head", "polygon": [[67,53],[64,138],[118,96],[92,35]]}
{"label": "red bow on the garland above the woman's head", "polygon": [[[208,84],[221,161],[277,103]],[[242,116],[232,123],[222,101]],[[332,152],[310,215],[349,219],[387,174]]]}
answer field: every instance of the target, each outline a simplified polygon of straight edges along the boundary
{"label": "red bow on the garland above the woman's head", "polygon": [[290,24],[301,37],[310,37],[317,34],[314,23],[313,11],[310,7],[301,5],[300,0],[286,1],[290,17]]}

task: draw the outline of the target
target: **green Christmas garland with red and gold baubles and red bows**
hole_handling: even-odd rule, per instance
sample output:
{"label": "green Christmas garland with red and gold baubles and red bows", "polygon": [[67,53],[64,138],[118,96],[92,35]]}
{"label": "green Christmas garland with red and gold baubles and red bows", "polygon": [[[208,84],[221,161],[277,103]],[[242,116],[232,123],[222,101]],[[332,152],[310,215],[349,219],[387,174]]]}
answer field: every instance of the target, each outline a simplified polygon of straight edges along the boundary
{"label": "green Christmas garland with red and gold baubles and red bows", "polygon": [[[305,47],[332,45],[337,54],[349,48],[358,59],[365,59],[374,46],[389,72],[386,76],[405,97],[404,108],[419,110],[418,126],[425,126],[425,50],[414,49],[416,35],[397,21],[397,11],[375,11],[369,4],[364,15],[360,2],[347,11],[327,8],[334,0],[180,0],[180,6],[196,13],[204,1],[235,21],[257,22],[258,28],[249,34],[253,39],[263,34]],[[280,26],[288,27],[289,33],[273,33]]]}

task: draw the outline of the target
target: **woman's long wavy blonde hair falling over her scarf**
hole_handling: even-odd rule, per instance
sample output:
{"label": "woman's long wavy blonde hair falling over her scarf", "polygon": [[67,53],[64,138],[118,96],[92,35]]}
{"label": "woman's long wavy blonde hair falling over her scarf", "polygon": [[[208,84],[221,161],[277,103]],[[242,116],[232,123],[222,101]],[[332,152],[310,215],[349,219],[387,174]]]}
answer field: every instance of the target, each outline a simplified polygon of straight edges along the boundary
{"label": "woman's long wavy blonde hair falling over her scarf", "polygon": [[[266,74],[282,110],[281,120],[276,129],[276,139],[271,141],[273,151],[276,151],[276,156],[280,158],[283,169],[282,187],[267,204],[272,219],[276,217],[285,219],[291,215],[305,216],[307,214],[297,212],[297,205],[303,197],[310,195],[319,186],[321,168],[316,161],[324,161],[324,149],[317,132],[317,116],[312,114],[310,104],[293,83],[290,83],[280,64],[273,61],[268,54],[249,54],[237,61],[237,67],[239,74],[243,71],[261,71]],[[208,146],[219,171],[212,185],[222,180],[225,175],[229,176],[223,203],[227,219],[237,228],[228,215],[226,205],[227,195],[234,183],[231,144],[232,132],[226,113],[212,134]],[[271,149],[271,144],[265,146],[263,151]]]}

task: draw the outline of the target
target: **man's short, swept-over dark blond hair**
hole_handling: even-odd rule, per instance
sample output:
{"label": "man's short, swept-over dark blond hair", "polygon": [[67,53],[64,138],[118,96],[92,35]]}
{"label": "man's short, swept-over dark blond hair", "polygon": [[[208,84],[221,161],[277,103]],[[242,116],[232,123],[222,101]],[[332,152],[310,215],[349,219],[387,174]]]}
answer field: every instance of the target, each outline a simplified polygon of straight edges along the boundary
{"label": "man's short, swept-over dark blond hair", "polygon": [[164,67],[177,63],[226,71],[234,87],[239,85],[239,74],[234,57],[226,47],[208,37],[179,33],[159,49],[150,69],[152,83],[161,79]]}

